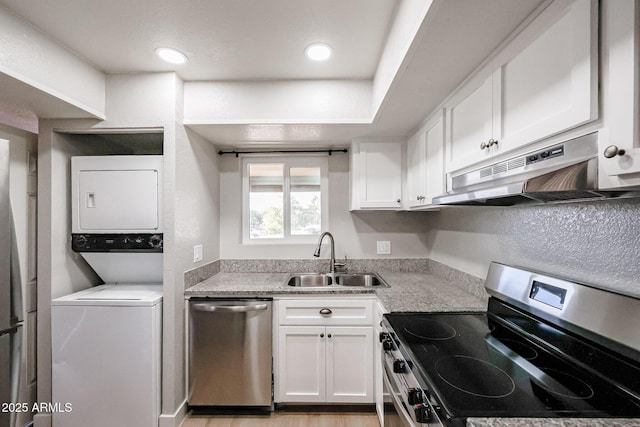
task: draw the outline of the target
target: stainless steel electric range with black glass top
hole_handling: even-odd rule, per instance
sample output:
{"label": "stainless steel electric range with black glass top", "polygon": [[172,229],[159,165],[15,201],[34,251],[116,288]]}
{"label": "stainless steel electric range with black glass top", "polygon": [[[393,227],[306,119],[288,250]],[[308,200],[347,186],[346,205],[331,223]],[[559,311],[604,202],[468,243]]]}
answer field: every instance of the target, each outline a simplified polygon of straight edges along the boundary
{"label": "stainless steel electric range with black glass top", "polygon": [[486,313],[385,314],[385,426],[640,417],[640,300],[492,263]]}

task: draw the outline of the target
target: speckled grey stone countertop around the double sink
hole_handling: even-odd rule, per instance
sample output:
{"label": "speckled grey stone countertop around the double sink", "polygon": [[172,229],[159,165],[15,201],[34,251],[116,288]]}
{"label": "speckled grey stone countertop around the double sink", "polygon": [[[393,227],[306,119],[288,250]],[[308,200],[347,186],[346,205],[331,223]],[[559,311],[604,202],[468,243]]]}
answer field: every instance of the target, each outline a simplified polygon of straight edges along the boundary
{"label": "speckled grey stone countertop around the double sink", "polygon": [[293,287],[288,273],[218,273],[185,290],[186,297],[261,297],[278,295],[375,294],[386,311],[485,311],[486,297],[479,297],[433,273],[376,272],[389,288]]}

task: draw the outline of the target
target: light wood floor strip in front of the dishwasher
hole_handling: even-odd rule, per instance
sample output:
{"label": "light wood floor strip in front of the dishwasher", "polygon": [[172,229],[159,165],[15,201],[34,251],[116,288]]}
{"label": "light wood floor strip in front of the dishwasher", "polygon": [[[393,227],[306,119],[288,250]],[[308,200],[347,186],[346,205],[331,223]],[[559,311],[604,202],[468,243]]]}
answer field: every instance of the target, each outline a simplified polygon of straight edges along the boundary
{"label": "light wood floor strip in front of the dishwasher", "polygon": [[288,412],[271,415],[193,415],[181,427],[380,427],[375,412]]}

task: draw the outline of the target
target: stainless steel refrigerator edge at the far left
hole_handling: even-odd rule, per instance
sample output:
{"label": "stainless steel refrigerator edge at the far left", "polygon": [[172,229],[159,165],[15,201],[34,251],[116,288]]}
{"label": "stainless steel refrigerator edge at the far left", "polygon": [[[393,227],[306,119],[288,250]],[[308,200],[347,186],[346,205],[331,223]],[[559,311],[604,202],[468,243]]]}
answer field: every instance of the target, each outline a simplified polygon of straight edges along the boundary
{"label": "stainless steel refrigerator edge at the far left", "polygon": [[10,404],[18,396],[22,350],[22,289],[9,190],[9,141],[0,140],[0,427],[15,424]]}

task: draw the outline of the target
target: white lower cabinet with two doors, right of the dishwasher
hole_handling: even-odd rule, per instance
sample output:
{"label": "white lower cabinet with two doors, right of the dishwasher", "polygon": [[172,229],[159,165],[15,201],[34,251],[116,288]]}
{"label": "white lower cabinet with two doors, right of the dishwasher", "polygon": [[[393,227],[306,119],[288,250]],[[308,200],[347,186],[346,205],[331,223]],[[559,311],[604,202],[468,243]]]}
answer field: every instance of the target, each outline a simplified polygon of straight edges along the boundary
{"label": "white lower cabinet with two doors, right of the dishwasher", "polygon": [[[318,312],[331,311],[317,318],[317,325],[289,325],[291,319],[279,317],[277,322],[277,353],[275,401],[277,403],[373,403],[374,344],[371,308],[372,300],[349,301],[369,313],[357,323],[361,326],[332,325],[336,312],[345,305],[342,300],[321,301]],[[308,309],[309,300],[278,301],[279,313],[295,311],[296,305]],[[360,310],[356,310],[360,311]],[[306,316],[305,316],[306,317]],[[353,323],[343,319],[347,323]],[[309,323],[306,317],[306,322]],[[282,324],[284,323],[284,324]],[[328,323],[328,326],[323,325]]]}

